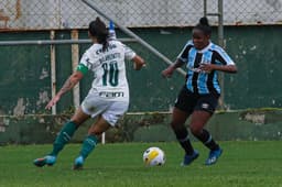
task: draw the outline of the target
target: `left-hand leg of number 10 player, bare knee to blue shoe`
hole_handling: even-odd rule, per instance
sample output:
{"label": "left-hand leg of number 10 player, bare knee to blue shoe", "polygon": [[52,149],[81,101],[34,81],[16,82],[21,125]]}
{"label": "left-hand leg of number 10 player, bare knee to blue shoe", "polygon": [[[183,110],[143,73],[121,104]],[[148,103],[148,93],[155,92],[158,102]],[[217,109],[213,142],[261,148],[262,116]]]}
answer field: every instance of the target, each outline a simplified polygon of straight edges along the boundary
{"label": "left-hand leg of number 10 player, bare knee to blue shoe", "polygon": [[65,144],[69,142],[77,128],[88,118],[89,116],[84,113],[82,108],[78,108],[70,121],[66,122],[57,134],[53,143],[53,151],[44,157],[34,160],[34,165],[39,167],[44,165],[54,165],[58,153],[64,148]]}

